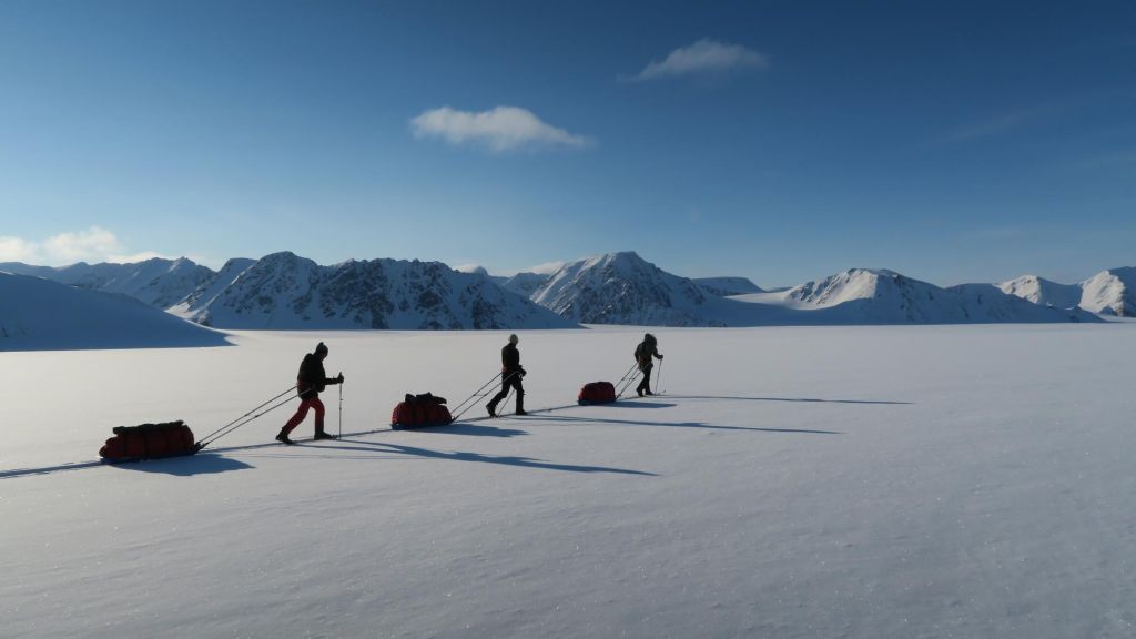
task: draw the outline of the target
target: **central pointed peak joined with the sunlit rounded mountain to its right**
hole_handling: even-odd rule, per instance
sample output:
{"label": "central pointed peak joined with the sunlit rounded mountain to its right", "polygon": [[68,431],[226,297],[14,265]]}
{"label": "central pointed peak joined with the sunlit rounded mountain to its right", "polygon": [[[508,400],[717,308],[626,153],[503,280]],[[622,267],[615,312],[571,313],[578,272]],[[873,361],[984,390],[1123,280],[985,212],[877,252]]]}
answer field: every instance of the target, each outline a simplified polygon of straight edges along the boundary
{"label": "central pointed peak joined with the sunlit rounded mountain to its right", "polygon": [[566,264],[533,301],[585,324],[761,326],[1097,322],[1031,304],[991,284],[942,289],[884,269],[853,268],[782,292],[720,298],[635,252]]}

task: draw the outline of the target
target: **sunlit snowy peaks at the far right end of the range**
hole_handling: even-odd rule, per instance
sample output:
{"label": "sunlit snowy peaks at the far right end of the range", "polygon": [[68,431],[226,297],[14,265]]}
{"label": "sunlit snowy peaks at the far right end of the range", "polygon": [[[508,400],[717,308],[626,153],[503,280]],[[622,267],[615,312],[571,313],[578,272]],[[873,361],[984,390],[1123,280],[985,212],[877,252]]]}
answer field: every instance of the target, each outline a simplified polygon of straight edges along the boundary
{"label": "sunlit snowy peaks at the far right end of the range", "polygon": [[1002,282],[1003,291],[1034,304],[1072,308],[1092,313],[1136,316],[1136,268],[1109,268],[1077,284],[1059,284],[1036,275],[1022,275]]}

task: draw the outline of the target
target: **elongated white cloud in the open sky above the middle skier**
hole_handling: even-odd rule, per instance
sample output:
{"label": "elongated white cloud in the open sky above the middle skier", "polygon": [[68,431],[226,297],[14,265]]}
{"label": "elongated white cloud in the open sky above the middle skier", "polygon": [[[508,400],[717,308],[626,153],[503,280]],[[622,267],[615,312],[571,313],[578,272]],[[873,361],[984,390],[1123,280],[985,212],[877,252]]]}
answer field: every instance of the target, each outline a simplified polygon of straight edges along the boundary
{"label": "elongated white cloud in the open sky above the middle skier", "polygon": [[460,111],[451,107],[431,109],[410,121],[415,138],[440,138],[446,142],[483,144],[502,152],[534,147],[583,148],[592,141],[546,124],[520,107],[494,107],[487,111]]}

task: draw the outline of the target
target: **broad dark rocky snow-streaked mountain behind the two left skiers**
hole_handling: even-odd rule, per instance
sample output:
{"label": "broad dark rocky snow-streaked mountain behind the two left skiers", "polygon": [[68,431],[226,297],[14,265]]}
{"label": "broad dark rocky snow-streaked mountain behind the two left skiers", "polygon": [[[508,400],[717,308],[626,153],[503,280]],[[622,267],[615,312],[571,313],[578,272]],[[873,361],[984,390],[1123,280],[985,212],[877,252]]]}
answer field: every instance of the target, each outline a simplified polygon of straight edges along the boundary
{"label": "broad dark rocky snow-streaked mountain behind the two left skiers", "polygon": [[172,308],[217,329],[560,329],[548,309],[481,273],[437,262],[348,260],[320,266],[291,252],[229,260]]}

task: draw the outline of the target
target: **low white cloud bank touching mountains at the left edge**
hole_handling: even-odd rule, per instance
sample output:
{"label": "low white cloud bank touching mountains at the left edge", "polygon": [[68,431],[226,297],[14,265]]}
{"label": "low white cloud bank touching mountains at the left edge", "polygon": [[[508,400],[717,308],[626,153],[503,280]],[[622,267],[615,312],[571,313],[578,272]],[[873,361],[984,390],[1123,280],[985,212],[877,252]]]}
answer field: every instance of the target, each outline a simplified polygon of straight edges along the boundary
{"label": "low white cloud bank touching mountains at the left edge", "polygon": [[66,266],[76,262],[126,264],[153,257],[167,256],[154,251],[125,254],[118,238],[99,226],[91,226],[85,231],[67,231],[43,241],[0,236],[0,262],[23,262],[37,266]]}

